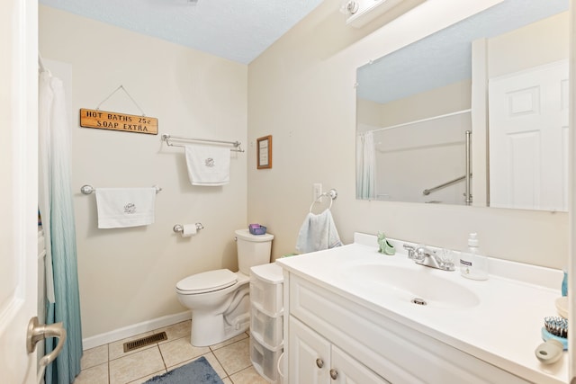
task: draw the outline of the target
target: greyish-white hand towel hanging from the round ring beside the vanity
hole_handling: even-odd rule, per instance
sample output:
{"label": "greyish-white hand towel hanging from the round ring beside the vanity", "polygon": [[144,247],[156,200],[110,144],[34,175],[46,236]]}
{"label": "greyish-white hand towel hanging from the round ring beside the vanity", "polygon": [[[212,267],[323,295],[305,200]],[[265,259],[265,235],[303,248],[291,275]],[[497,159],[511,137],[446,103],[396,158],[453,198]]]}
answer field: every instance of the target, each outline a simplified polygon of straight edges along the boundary
{"label": "greyish-white hand towel hanging from the round ring beside the vanity", "polygon": [[342,242],[330,210],[324,210],[320,215],[309,213],[300,228],[296,250],[307,254],[335,246],[342,246]]}

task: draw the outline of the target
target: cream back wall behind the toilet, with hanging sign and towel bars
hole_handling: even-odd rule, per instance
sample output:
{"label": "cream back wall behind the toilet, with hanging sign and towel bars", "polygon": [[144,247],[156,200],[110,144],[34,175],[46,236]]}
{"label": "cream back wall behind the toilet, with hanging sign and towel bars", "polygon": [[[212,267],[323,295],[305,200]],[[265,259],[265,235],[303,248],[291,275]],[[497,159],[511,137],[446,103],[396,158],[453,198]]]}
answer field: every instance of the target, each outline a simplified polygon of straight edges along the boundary
{"label": "cream back wall behind the toilet, with hanging sign and towel bars", "polygon": [[[183,148],[162,145],[160,135],[246,143],[247,66],[41,5],[40,52],[72,68],[67,96],[83,336],[183,312],[177,281],[221,267],[237,270],[233,238],[247,226],[247,155],[232,154],[228,185],[195,187]],[[79,127],[79,109],[95,109],[119,85],[158,119],[157,136]],[[140,114],[121,91],[101,109]],[[98,229],[94,194],[80,193],[85,183],[158,184],[156,222]],[[204,229],[195,237],[172,230],[196,221]]]}

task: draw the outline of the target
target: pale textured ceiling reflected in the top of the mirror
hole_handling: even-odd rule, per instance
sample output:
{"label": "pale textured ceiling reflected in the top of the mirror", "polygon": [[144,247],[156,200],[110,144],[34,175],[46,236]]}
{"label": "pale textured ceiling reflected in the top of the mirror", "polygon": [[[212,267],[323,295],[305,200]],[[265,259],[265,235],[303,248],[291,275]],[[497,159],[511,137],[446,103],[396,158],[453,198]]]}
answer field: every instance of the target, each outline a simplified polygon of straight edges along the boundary
{"label": "pale textured ceiling reflected in the top of the mirror", "polygon": [[568,0],[506,0],[358,69],[358,97],[389,103],[472,76],[472,41],[567,11]]}

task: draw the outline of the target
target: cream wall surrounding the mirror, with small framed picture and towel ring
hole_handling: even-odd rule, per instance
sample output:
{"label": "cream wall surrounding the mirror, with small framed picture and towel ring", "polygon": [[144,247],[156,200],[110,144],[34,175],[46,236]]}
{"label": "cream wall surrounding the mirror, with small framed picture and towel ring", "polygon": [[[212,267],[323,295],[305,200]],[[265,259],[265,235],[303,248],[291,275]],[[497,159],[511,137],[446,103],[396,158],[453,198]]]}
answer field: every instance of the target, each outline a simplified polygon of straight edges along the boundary
{"label": "cream wall surrounding the mirror, with small framed picture and towel ring", "polygon": [[355,198],[356,67],[496,3],[428,0],[382,28],[384,18],[356,30],[346,26],[338,2],[327,0],[249,65],[248,139],[274,136],[274,167],[257,170],[254,152],[248,156],[248,221],[275,234],[275,256],[293,252],[312,183],[323,183],[338,190],[332,211],[346,243],[354,231],[383,230],[462,249],[468,233],[478,232],[488,255],[567,263],[565,213]]}

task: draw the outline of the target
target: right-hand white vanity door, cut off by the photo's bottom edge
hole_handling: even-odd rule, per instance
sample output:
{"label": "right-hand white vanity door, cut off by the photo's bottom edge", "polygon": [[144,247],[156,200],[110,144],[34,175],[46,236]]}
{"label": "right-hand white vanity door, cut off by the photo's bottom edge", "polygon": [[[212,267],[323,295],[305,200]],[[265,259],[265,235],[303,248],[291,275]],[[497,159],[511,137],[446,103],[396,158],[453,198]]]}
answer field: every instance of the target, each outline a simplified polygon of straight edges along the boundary
{"label": "right-hand white vanity door, cut off by the photo's bottom edge", "polygon": [[[330,376],[338,384],[390,384],[337,346],[332,345]],[[336,379],[335,379],[336,378]]]}

